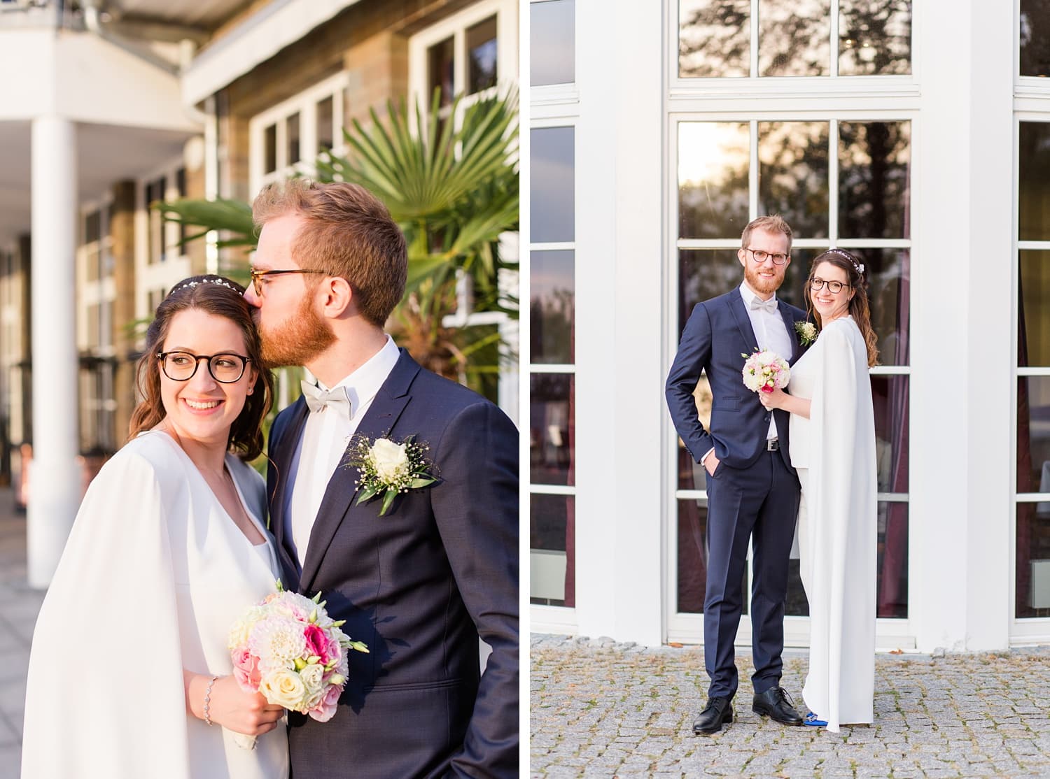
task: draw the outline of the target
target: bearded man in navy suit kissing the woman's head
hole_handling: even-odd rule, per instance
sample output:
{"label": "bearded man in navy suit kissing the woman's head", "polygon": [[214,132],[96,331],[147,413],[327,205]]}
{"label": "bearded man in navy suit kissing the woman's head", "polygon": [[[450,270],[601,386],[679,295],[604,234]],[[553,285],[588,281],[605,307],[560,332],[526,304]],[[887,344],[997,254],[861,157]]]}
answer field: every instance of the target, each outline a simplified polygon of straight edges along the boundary
{"label": "bearded man in navy suit kissing the woman's head", "polygon": [[[319,386],[270,433],[270,527],[289,589],[320,591],[350,653],[331,721],[291,715],[296,779],[517,777],[518,431],[383,331],[404,294],[404,237],[356,185],[265,189],[246,293],[268,365]],[[361,502],[351,436],[425,443],[438,480]],[[491,653],[479,671],[479,635]]]}

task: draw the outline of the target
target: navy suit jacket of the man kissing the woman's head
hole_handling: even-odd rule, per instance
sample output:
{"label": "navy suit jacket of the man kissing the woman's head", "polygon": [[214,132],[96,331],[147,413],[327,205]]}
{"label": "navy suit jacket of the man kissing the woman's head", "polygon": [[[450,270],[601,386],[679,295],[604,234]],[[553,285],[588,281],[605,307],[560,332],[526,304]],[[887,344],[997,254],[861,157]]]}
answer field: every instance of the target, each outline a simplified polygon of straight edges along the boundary
{"label": "navy suit jacket of the man kissing the woman's head", "polygon": [[[357,433],[429,445],[439,481],[380,517],[336,469],[301,572],[285,543],[300,397],[270,433],[271,527],[288,588],[313,596],[370,653],[350,652],[335,717],[291,715],[296,779],[517,777],[518,430],[498,407],[421,368],[403,349]],[[491,647],[479,671],[479,635]]]}

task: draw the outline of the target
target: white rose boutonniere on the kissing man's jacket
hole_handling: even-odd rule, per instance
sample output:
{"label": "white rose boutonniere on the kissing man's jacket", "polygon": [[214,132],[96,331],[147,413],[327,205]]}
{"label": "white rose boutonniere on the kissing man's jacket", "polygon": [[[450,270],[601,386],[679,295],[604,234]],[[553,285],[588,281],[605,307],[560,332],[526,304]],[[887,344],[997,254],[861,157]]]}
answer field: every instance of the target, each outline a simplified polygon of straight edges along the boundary
{"label": "white rose boutonniere on the kissing man's jacket", "polygon": [[355,435],[348,448],[346,464],[356,468],[361,477],[357,480],[360,495],[358,503],[375,497],[382,497],[379,516],[383,516],[394,504],[394,498],[410,490],[418,490],[437,481],[430,473],[433,463],[427,459],[429,447],[417,442],[410,435],[398,442],[392,438],[370,438]]}

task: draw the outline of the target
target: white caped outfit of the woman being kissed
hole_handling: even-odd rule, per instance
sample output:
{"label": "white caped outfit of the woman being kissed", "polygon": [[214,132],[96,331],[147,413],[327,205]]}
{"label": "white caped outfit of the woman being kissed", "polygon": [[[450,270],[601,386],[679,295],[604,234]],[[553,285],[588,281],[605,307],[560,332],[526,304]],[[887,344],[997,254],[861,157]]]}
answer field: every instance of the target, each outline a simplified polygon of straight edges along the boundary
{"label": "white caped outfit of the woman being kissed", "polygon": [[[261,477],[227,468],[268,536]],[[91,482],[37,619],[23,779],[281,779],[278,727],[254,751],[186,710],[183,668],[232,672],[227,634],[274,590],[270,542],[252,545],[166,433],[121,449]]]}

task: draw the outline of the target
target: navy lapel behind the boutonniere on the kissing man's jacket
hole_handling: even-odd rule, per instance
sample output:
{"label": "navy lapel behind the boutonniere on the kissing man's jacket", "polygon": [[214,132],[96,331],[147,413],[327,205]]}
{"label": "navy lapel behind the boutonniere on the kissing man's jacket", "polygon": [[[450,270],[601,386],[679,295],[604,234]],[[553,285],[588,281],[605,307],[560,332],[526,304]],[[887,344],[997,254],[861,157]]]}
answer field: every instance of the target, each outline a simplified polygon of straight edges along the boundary
{"label": "navy lapel behind the boutonniere on the kissing man's jacket", "polygon": [[[397,423],[404,407],[408,405],[412,395],[408,394],[408,387],[419,372],[419,365],[404,349],[398,358],[394,370],[383,382],[379,392],[376,393],[372,406],[357,426],[356,436],[365,436],[375,440],[380,436],[387,435]],[[349,442],[348,442],[349,446]],[[302,564],[302,575],[299,580],[299,590],[307,592],[313,586],[317,569],[321,560],[328,551],[332,539],[335,538],[339,526],[345,521],[346,515],[353,506],[357,497],[357,479],[359,473],[356,468],[348,467],[340,462],[336,467],[335,473],[329,480],[324,490],[324,497],[321,505],[317,510],[317,518],[314,521],[313,529],[310,532],[310,543],[307,546],[307,557]],[[370,501],[361,506],[365,512],[378,517],[379,505]]]}

